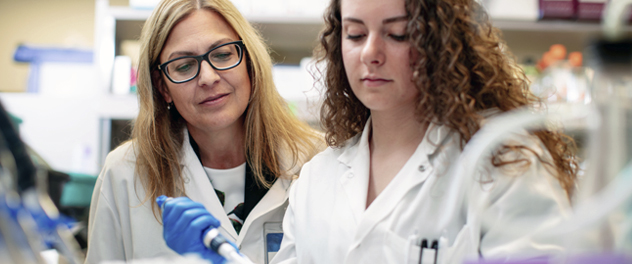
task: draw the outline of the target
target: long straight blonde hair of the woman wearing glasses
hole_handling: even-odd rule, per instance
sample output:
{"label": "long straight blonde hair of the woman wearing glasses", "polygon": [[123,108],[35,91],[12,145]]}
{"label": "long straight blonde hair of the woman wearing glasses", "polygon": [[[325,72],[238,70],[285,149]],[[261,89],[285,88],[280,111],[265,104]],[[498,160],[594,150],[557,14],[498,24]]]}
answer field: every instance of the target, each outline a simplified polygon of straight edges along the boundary
{"label": "long straight blonde hair of the woman wearing glasses", "polygon": [[[272,78],[272,60],[261,36],[229,0],[164,0],[145,22],[141,33],[138,70],[140,111],[132,129],[136,175],[145,188],[143,203],[160,195],[184,193],[180,157],[185,120],[168,110],[160,93],[165,86],[157,69],[159,56],[171,29],[195,10],[222,16],[246,46],[245,63],[251,80],[251,98],[245,117],[245,153],[257,184],[269,187],[264,170],[278,178],[302,165],[317,151],[318,135],[289,111]],[[282,154],[285,153],[285,154]],[[290,156],[281,166],[279,157]],[[212,191],[212,190],[209,190]],[[156,205],[152,203],[156,215]]]}

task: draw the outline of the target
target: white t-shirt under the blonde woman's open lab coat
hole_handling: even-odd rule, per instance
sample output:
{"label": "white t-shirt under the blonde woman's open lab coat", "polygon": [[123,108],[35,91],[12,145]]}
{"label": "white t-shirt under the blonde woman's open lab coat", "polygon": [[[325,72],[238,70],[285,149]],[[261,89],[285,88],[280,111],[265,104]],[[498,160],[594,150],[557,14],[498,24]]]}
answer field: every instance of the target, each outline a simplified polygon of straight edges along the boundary
{"label": "white t-shirt under the blonde woman's open lab coat", "polygon": [[246,163],[231,169],[211,169],[204,167],[215,190],[224,193],[224,211],[230,213],[235,206],[244,202],[246,189]]}

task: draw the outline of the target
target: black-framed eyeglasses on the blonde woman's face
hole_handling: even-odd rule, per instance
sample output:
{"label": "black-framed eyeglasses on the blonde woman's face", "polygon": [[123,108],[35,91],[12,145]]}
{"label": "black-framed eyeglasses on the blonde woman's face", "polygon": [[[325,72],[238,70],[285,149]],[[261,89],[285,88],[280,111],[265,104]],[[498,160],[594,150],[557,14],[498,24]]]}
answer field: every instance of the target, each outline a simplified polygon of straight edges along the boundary
{"label": "black-framed eyeglasses on the blonde woman's face", "polygon": [[184,83],[195,79],[200,74],[202,61],[208,62],[218,71],[237,67],[244,57],[246,47],[241,40],[224,43],[204,55],[184,56],[158,65],[167,78],[173,83]]}

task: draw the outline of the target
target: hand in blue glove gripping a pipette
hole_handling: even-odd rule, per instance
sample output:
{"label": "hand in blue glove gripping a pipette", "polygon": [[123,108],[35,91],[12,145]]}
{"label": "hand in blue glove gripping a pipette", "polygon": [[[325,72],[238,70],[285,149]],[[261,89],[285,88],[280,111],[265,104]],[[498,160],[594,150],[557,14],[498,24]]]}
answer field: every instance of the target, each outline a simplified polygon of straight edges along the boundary
{"label": "hand in blue glove gripping a pipette", "polygon": [[[166,201],[165,201],[166,200]],[[211,228],[220,226],[204,205],[187,197],[167,200],[162,195],[156,199],[162,211],[163,238],[167,246],[180,255],[195,253],[214,264],[224,264],[226,259],[204,246],[203,238]],[[231,243],[235,246],[233,243]],[[235,247],[237,248],[237,247]]]}

